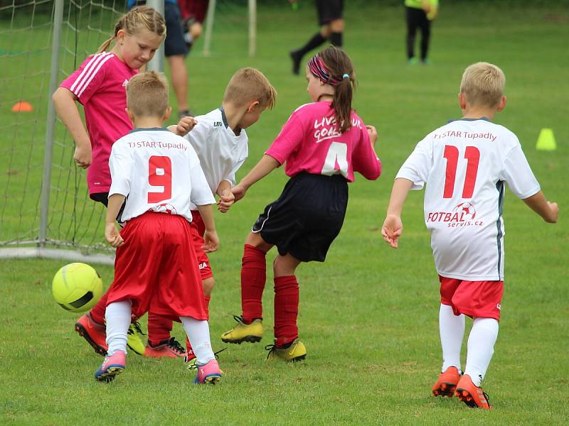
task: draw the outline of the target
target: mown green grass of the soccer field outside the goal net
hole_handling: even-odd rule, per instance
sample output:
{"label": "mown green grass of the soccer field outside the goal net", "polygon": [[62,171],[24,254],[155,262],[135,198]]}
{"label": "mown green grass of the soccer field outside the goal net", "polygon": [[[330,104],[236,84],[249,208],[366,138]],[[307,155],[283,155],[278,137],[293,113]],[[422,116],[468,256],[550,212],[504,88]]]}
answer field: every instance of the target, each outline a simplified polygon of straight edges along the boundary
{"label": "mown green grass of the soccer field outside the goal net", "polygon": [[[259,68],[279,92],[275,109],[248,129],[250,155],[238,177],[255,165],[289,114],[309,102],[304,77],[290,72],[288,51],[317,31],[314,10],[301,4],[293,11],[285,1],[282,7],[258,3],[255,58],[245,55],[245,45],[211,58],[188,58],[191,109],[198,114],[219,106],[240,67]],[[359,80],[354,107],[378,129],[383,175],[376,182],[356,176],[344,228],[326,262],[297,270],[299,332],[307,359],[265,361],[264,346],[272,343],[272,271],[263,298],[262,342],[228,346],[219,338],[233,327],[232,315],[240,314],[243,241],[285,185],[279,169],[228,214],[216,214],[221,244],[210,256],[216,277],[210,327],[214,350],[228,346],[220,354],[225,372],[220,386],[193,386],[193,373],[181,361],[136,354],[129,354],[127,370],[114,382],[95,382],[102,358],[73,331],[77,315],[51,296],[53,274],[67,262],[1,260],[0,424],[567,424],[569,186],[563,170],[569,165],[569,8],[442,1],[432,28],[431,65],[409,66],[403,6],[375,3],[346,2],[344,47]],[[508,104],[495,121],[519,136],[543,192],[561,210],[558,224],[546,224],[506,190],[505,291],[499,337],[483,383],[494,406],[489,411],[469,410],[457,398],[430,393],[441,364],[440,296],[422,220],[423,192],[408,197],[398,250],[383,243],[379,231],[395,173],[426,133],[459,118],[462,71],[480,60],[504,70]],[[1,117],[11,115],[1,111]],[[553,129],[556,151],[536,151],[542,128]],[[37,173],[41,182],[41,170]],[[267,265],[274,256],[270,252]],[[107,287],[112,267],[94,266]],[[467,332],[471,323],[467,320]],[[142,324],[146,329],[145,319]],[[183,342],[179,324],[174,335]],[[463,363],[465,354],[464,344]]]}

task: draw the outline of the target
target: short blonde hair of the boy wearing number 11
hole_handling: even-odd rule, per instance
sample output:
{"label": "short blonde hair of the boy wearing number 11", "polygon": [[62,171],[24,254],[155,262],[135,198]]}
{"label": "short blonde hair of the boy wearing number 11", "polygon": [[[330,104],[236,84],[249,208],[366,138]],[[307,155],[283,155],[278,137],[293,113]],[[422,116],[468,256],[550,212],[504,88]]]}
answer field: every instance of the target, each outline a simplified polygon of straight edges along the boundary
{"label": "short blonde hair of the boy wearing number 11", "polygon": [[497,107],[504,96],[506,76],[496,65],[477,62],[464,70],[460,82],[460,93],[470,105]]}

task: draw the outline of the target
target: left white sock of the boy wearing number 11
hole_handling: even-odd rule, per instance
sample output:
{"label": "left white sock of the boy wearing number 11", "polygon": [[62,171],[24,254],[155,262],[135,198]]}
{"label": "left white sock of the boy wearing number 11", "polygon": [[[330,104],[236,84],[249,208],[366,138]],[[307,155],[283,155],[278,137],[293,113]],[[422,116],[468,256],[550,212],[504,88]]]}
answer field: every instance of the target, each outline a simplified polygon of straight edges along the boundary
{"label": "left white sock of the boy wearing number 11", "polygon": [[452,307],[440,305],[439,311],[440,344],[442,346],[442,371],[450,366],[460,373],[460,349],[464,338],[464,315],[454,315]]}

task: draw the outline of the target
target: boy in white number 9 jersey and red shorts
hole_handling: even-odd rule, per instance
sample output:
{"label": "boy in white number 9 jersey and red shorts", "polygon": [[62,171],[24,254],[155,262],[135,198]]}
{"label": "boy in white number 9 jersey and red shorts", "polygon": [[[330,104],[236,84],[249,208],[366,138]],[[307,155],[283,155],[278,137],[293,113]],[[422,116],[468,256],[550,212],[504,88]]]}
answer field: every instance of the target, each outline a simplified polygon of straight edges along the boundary
{"label": "boy in white number 9 jersey and red shorts", "polygon": [[[105,238],[117,255],[105,312],[107,356],[95,372],[98,381],[124,371],[131,315],[148,310],[184,324],[197,357],[195,383],[221,378],[190,227],[193,203],[206,226],[205,250],[217,249],[215,199],[190,144],[161,128],[170,111],[164,77],[146,72],[129,80],[127,114],[134,130],[113,144],[109,160]],[[124,202],[126,225],[119,233],[115,218]]]}

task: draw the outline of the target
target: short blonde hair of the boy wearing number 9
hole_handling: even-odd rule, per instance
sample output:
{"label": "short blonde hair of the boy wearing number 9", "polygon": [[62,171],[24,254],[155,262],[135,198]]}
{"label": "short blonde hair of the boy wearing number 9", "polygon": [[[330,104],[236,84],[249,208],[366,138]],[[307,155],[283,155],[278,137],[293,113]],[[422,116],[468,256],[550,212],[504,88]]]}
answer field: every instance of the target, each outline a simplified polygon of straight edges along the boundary
{"label": "short blonde hair of the boy wearing number 9", "polygon": [[168,81],[156,71],[140,72],[127,84],[127,107],[137,117],[162,117],[168,109]]}

